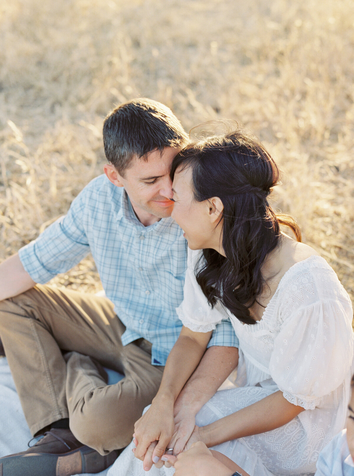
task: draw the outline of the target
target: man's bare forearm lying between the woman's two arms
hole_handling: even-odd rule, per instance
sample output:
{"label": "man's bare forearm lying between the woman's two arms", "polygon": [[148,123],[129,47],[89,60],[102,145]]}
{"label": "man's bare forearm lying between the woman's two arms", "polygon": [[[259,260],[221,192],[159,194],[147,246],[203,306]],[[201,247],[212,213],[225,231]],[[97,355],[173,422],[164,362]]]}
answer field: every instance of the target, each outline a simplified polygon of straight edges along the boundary
{"label": "man's bare forearm lying between the woman's two arms", "polygon": [[167,446],[174,448],[175,456],[183,451],[191,436],[198,411],[216,393],[237,364],[237,347],[213,346],[206,350],[174,406],[175,433]]}

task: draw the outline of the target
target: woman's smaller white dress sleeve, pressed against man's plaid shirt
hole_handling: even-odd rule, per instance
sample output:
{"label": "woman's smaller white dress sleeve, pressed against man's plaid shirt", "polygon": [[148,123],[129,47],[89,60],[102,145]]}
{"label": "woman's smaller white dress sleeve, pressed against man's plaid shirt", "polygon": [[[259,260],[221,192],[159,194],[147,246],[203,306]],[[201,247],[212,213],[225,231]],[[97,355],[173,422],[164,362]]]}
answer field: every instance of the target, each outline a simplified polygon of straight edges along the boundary
{"label": "woman's smaller white dress sleeve, pressed against man's plaid shirt", "polygon": [[183,288],[183,301],[177,307],[177,315],[183,325],[194,332],[209,332],[220,324],[222,319],[228,319],[227,314],[219,303],[212,308],[197,283],[195,271],[204,258],[202,250],[188,248],[187,272]]}

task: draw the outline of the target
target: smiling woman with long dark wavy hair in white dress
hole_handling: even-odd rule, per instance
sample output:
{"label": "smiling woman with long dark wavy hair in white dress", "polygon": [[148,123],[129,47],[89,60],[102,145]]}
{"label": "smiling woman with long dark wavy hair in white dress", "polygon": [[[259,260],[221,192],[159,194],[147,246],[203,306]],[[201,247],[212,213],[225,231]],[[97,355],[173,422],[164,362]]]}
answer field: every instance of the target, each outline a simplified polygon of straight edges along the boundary
{"label": "smiling woman with long dark wavy hair in white dress", "polygon": [[[256,138],[234,131],[189,145],[174,159],[171,178],[172,216],[190,248],[178,315],[196,342],[227,316],[240,341],[239,387],[201,408],[186,449],[204,442],[250,475],[313,474],[319,452],[344,426],[351,301],[325,260],[301,243],[295,222],[269,206],[279,172]],[[178,395],[167,377],[161,386]],[[138,441],[157,401],[138,422]],[[173,437],[167,447],[175,445]],[[128,461],[130,450],[112,475],[144,474],[141,463]]]}

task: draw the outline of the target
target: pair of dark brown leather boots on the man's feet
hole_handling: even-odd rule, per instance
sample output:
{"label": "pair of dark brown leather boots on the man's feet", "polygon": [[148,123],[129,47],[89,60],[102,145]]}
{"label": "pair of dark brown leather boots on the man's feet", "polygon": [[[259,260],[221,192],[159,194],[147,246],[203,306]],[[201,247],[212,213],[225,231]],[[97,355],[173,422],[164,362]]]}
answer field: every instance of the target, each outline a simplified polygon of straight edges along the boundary
{"label": "pair of dark brown leather boots on the man's feet", "polygon": [[121,450],[102,456],[80,443],[70,430],[52,428],[22,453],[0,458],[0,476],[71,476],[99,473],[112,465]]}

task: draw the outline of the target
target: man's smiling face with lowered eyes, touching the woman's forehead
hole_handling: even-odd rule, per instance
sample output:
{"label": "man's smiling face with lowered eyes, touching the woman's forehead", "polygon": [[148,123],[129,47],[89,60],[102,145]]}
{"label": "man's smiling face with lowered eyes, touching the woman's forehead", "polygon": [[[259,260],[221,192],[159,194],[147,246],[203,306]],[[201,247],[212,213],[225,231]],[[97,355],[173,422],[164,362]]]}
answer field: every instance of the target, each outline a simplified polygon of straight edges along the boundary
{"label": "man's smiling face with lowered eyes, touching the woman's forehead", "polygon": [[[169,176],[173,158],[180,149],[155,150],[143,159],[133,159],[121,177],[112,165],[105,166],[109,180],[124,187],[139,220],[149,224],[149,216],[166,218],[173,210],[172,182]],[[156,221],[156,220],[155,220]],[[146,223],[145,223],[146,222]]]}

